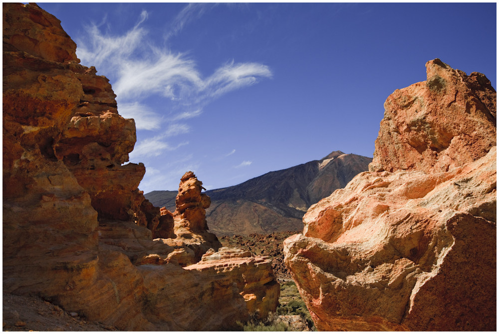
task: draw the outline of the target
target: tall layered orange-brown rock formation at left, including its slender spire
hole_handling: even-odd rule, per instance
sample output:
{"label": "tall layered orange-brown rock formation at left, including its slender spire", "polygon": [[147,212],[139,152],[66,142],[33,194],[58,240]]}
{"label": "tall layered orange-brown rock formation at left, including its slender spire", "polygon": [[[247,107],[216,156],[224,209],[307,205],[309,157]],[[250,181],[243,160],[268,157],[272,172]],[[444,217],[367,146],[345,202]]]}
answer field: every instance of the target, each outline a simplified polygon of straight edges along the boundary
{"label": "tall layered orange-brown rock formation at left, including its slender spire", "polygon": [[[183,180],[175,216],[144,198],[145,167],[123,165],[134,121],[75,49],[36,4],[3,3],[3,292],[120,330],[218,330],[247,319],[255,303],[275,309],[265,259],[183,268],[219,247],[205,229],[208,198],[194,198],[201,182]],[[245,301],[249,292],[256,302]]]}

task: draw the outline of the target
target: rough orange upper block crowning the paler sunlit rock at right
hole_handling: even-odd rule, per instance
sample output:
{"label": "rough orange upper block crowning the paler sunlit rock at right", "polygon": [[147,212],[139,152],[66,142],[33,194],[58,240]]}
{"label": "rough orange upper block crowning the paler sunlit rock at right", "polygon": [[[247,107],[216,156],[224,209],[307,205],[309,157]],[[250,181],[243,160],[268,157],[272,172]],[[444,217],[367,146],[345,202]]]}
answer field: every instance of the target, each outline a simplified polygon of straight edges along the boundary
{"label": "rough orange upper block crowning the paler sunlit rock at right", "polygon": [[370,170],[446,171],[496,145],[496,91],[487,77],[440,59],[426,64],[426,74],[386,100]]}

